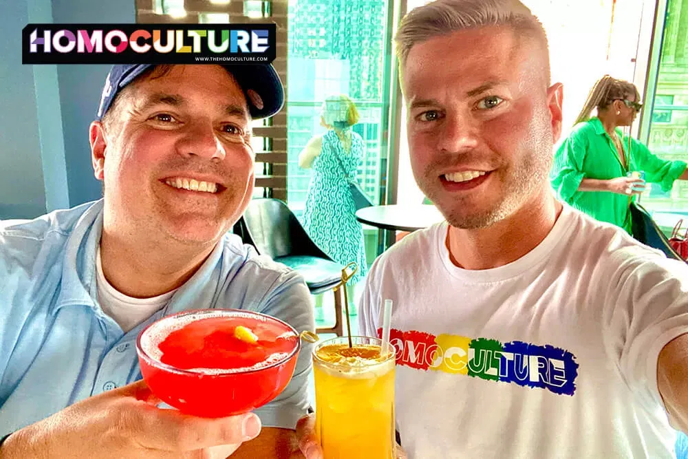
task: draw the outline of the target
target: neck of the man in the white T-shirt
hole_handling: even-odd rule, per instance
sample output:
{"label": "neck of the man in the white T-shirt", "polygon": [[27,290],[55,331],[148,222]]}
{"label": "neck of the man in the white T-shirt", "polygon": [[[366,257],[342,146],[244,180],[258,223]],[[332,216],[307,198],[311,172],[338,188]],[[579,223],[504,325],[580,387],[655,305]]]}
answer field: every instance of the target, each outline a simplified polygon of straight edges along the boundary
{"label": "neck of the man in the white T-shirt", "polygon": [[563,206],[548,189],[505,220],[487,228],[449,226],[447,247],[460,268],[482,270],[504,266],[526,255],[552,231]]}

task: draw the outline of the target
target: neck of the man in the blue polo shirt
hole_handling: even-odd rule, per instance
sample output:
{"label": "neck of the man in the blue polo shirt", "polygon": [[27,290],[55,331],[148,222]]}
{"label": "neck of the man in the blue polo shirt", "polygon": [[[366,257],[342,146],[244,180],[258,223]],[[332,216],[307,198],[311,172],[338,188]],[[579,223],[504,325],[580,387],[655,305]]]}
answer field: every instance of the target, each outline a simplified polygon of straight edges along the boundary
{"label": "neck of the man in the blue polo shirt", "polygon": [[150,298],[189,280],[214,246],[189,246],[175,241],[131,241],[103,226],[100,259],[105,279],[119,292]]}

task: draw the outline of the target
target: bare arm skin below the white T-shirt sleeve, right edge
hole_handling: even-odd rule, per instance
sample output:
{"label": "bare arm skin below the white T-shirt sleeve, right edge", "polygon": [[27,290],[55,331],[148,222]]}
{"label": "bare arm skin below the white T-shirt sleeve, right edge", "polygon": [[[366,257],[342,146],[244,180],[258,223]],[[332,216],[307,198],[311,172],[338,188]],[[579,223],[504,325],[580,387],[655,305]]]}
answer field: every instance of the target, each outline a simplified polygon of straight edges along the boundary
{"label": "bare arm skin below the white T-shirt sleeve, right edge", "polygon": [[688,434],[688,334],[674,338],[660,352],[657,385],[671,425]]}

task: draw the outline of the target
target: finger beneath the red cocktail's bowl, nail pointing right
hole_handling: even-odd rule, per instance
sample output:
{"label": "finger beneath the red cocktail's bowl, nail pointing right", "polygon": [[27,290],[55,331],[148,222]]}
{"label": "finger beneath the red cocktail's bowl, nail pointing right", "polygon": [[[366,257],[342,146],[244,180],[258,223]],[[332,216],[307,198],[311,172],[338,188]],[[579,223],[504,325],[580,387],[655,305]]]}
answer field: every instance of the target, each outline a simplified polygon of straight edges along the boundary
{"label": "finger beneath the red cocktail's bowl, nail pointing right", "polygon": [[261,422],[252,413],[209,419],[176,409],[154,409],[143,415],[141,430],[140,442],[153,449],[193,451],[219,445],[235,445],[236,449],[258,436]]}

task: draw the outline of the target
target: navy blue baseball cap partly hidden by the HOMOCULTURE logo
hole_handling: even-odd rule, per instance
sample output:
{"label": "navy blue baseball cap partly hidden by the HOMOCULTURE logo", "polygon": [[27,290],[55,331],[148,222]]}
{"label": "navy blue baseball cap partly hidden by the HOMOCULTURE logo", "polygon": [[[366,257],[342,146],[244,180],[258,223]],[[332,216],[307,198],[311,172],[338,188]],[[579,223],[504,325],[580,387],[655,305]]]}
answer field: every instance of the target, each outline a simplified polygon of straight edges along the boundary
{"label": "navy blue baseball cap partly hidden by the HOMOCULTURE logo", "polygon": [[[153,64],[113,65],[107,78],[96,120],[103,118],[123,87],[136,80]],[[254,120],[268,118],[281,110],[284,105],[284,88],[272,65],[223,65],[239,83],[244,91],[248,112]]]}

